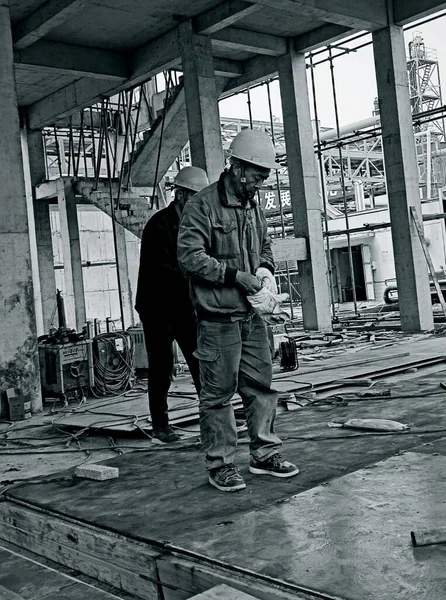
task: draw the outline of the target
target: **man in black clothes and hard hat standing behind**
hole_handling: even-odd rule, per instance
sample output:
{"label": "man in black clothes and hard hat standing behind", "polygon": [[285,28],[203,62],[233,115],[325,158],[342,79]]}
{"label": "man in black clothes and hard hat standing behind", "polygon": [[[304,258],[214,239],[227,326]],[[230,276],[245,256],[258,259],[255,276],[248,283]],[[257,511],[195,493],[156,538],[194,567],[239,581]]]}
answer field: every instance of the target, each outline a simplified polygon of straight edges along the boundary
{"label": "man in black clothes and hard hat standing behind", "polygon": [[196,322],[189,284],[177,260],[180,216],[186,202],[209,184],[203,169],[184,167],[175,178],[175,199],[144,228],[135,308],[144,328],[149,359],[148,392],[154,441],[171,443],[179,436],[169,425],[167,394],[172,380],[176,340],[197,391],[200,390]]}

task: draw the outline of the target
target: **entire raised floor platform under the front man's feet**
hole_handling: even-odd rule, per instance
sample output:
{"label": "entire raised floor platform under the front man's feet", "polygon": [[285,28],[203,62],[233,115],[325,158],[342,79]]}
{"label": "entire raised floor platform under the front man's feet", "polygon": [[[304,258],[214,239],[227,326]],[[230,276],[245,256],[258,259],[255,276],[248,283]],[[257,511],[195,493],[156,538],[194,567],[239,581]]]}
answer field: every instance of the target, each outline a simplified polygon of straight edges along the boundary
{"label": "entire raised floor platform under the front man's feet", "polygon": [[[433,348],[446,354],[446,338],[424,338],[412,350],[421,356]],[[115,454],[107,464],[119,467],[116,480],[79,480],[68,470],[6,496],[342,600],[443,600],[446,547],[412,549],[410,531],[446,522],[444,380],[443,364],[377,384],[391,387],[390,398],[350,397],[347,405],[283,413],[284,455],[301,473],[289,480],[251,475],[241,443],[237,463],[248,487],[238,494],[211,488],[200,449],[184,443]],[[329,429],[338,417],[396,419],[411,430]]]}

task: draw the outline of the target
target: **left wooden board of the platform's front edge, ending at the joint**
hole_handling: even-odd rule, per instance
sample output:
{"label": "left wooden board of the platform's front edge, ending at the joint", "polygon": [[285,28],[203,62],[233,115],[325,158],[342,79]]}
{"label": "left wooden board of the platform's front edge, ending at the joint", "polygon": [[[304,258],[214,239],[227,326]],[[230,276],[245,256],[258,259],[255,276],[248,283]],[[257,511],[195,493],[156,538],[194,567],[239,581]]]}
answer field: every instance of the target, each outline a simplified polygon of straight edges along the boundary
{"label": "left wooden board of the platform's front edge, ending at the joint", "polygon": [[124,536],[2,502],[0,538],[138,597],[157,597],[158,552]]}

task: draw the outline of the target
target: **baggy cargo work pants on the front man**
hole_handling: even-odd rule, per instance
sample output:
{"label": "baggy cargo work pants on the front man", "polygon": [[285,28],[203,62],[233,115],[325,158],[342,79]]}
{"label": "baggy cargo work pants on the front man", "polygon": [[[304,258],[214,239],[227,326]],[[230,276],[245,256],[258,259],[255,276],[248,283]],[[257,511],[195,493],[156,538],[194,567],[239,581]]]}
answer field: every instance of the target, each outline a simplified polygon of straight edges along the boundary
{"label": "baggy cargo work pants on the front man", "polygon": [[256,315],[224,323],[200,320],[197,357],[200,361],[200,431],[206,466],[215,469],[234,462],[237,427],[231,400],[243,400],[250,453],[265,460],[282,445],[275,433],[277,391],[266,327]]}

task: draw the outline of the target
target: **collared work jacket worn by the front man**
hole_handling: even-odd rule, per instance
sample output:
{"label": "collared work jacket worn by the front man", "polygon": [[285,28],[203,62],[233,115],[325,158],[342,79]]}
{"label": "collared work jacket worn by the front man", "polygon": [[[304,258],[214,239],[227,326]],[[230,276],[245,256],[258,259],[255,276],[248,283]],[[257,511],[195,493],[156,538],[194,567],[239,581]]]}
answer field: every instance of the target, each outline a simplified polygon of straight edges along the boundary
{"label": "collared work jacket worn by the front man", "polygon": [[178,262],[190,278],[192,303],[201,318],[242,317],[250,310],[235,284],[237,271],[274,273],[267,223],[254,200],[242,206],[228,193],[226,175],[191,198],[183,211]]}

